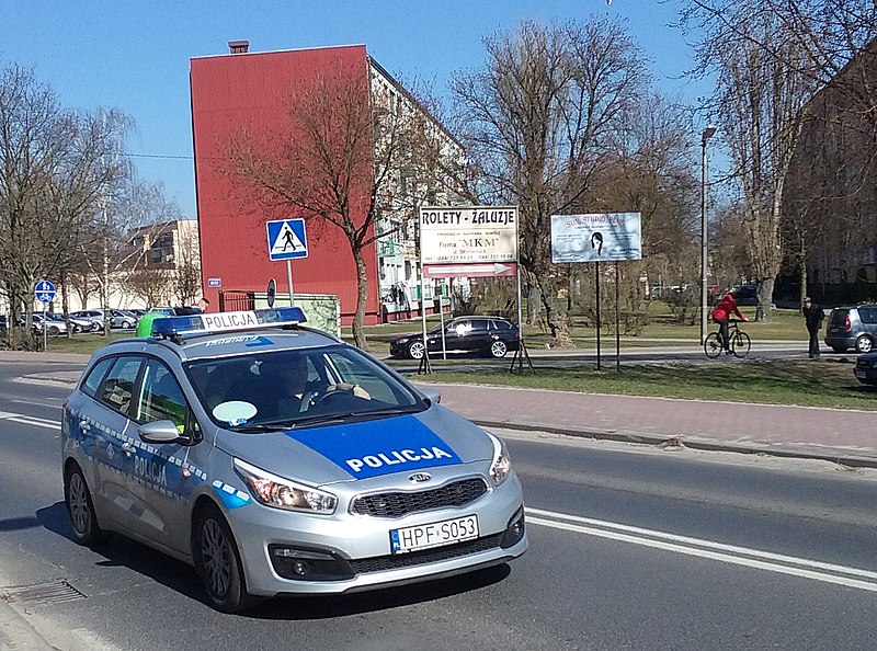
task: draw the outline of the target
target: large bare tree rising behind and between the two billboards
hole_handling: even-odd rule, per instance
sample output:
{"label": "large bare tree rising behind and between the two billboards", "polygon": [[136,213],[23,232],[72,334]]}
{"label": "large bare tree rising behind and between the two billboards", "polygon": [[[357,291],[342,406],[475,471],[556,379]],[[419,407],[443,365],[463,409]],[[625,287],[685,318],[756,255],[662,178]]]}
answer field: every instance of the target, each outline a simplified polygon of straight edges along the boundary
{"label": "large bare tree rising behind and between the two billboards", "polygon": [[645,65],[620,23],[610,21],[525,22],[485,45],[487,65],[452,84],[463,141],[487,192],[519,205],[531,309],[540,304],[555,343],[571,345],[550,262],[550,218],[580,203],[643,89]]}

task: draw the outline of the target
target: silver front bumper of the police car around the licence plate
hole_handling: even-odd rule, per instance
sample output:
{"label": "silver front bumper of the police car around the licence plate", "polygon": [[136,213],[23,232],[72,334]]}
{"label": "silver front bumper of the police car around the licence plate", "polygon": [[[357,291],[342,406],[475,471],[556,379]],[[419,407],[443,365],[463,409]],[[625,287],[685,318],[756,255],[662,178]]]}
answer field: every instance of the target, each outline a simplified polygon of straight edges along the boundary
{"label": "silver front bumper of the police car around the licence plate", "polygon": [[[476,515],[479,537],[394,555],[390,530]],[[227,513],[251,594],[339,594],[437,579],[506,562],[527,537],[521,484],[512,475],[474,502],[384,518],[286,513],[260,504]]]}

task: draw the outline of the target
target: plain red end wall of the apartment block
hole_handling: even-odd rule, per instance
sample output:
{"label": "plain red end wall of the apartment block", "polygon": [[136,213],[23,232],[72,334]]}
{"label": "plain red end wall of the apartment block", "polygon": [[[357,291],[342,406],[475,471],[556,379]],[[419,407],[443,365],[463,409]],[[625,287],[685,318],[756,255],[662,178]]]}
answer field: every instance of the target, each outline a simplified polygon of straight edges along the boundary
{"label": "plain red end wall of the apartment block", "polygon": [[[208,278],[220,278],[221,290],[264,292],[270,278],[277,293],[288,290],[286,262],[269,260],[265,221],[304,217],[301,214],[265,214],[236,192],[221,173],[225,140],[247,125],[257,136],[265,127],[288,128],[284,104],[296,87],[304,87],[320,71],[351,66],[365,78],[365,46],[327,47],[275,53],[229,54],[191,60],[192,130],[195,184],[201,237],[204,293],[219,305],[218,288]],[[364,180],[371,184],[371,180]],[[364,185],[367,192],[368,185]],[[362,220],[362,216],[355,218]],[[308,220],[308,258],[293,260],[296,294],[334,294],[341,300],[342,322],[349,324],[356,309],[356,266],[341,229]],[[374,243],[364,252],[368,276],[366,323],[378,322],[377,256]]]}

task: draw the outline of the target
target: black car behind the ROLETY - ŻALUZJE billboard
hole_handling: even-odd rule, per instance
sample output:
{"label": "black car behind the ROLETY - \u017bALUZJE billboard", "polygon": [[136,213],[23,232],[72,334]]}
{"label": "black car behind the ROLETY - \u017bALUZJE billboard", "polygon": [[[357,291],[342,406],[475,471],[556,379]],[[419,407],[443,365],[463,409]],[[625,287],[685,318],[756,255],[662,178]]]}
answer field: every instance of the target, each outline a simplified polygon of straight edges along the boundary
{"label": "black car behind the ROLETY - \u017bALUZJE billboard", "polygon": [[[521,334],[517,326],[502,317],[457,317],[445,323],[444,341],[448,353],[480,353],[488,357],[503,357],[517,350]],[[442,352],[442,327],[426,332],[430,354]],[[394,357],[423,357],[423,333],[412,332],[390,341]]]}

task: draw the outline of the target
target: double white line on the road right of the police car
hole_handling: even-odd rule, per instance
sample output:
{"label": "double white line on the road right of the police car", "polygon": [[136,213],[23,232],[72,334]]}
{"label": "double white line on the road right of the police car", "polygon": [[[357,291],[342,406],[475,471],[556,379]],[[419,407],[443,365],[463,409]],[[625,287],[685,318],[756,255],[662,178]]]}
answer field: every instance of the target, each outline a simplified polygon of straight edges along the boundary
{"label": "double white line on the road right of the police car", "polygon": [[[725,545],[713,540],[643,529],[602,519],[543,511],[540,509],[527,507],[526,513],[527,524],[574,532],[588,536],[611,538],[613,540],[663,549],[675,553],[696,556],[725,563],[877,592],[877,572],[870,570],[824,563],[760,549],[749,549],[747,547]],[[874,581],[867,581],[868,579]]]}

